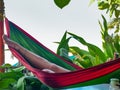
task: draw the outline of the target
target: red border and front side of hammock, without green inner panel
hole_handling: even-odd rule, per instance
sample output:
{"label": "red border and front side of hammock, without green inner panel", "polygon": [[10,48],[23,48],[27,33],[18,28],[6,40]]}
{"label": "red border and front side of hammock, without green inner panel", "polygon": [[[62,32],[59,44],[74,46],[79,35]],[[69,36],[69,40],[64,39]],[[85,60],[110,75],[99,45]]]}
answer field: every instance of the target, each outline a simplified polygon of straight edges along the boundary
{"label": "red border and front side of hammock, without green inner panel", "polygon": [[[46,48],[36,39],[34,39],[31,35],[25,32],[23,29],[15,25],[14,23],[10,22],[6,19],[6,28],[7,28],[7,35],[10,37],[11,34],[11,27],[16,27],[20,30],[23,34],[27,37],[32,38],[37,44]],[[12,24],[10,26],[10,23]],[[19,33],[17,33],[19,34]],[[81,69],[80,67],[72,65],[77,70],[71,71],[67,73],[46,73],[41,71],[37,68],[32,67],[19,52],[10,48],[11,52],[18,60],[44,84],[52,87],[52,88],[68,88],[68,87],[81,87],[81,86],[88,86],[94,84],[103,84],[109,83],[110,78],[117,77],[116,75],[120,72],[120,58],[98,65],[87,69]],[[47,48],[49,51],[49,49]],[[52,52],[51,52],[52,53]],[[54,53],[55,54],[55,53]],[[58,56],[58,55],[56,55]],[[62,58],[61,58],[62,59]],[[66,62],[65,62],[66,63]]]}

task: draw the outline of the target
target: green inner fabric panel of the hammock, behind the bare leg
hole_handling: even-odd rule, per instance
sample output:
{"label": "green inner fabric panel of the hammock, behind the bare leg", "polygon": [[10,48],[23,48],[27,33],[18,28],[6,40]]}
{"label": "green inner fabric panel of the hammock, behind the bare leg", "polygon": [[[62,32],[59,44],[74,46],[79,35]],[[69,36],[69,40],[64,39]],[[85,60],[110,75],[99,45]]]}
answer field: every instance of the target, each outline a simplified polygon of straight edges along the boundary
{"label": "green inner fabric panel of the hammock, behind the bare leg", "polygon": [[11,40],[14,40],[24,48],[28,49],[29,51],[37,55],[42,56],[43,58],[49,60],[50,62],[53,62],[69,70],[75,70],[75,68],[70,65],[70,62],[68,62],[69,64],[65,63],[66,60],[61,60],[62,57],[54,54],[54,52],[52,52],[51,50],[43,46],[41,43],[39,43],[37,40],[32,38],[30,34],[26,33],[25,35],[25,32],[22,30],[19,30],[20,28],[17,26],[14,26],[13,23],[9,23],[9,27],[10,27],[9,34],[10,34]]}

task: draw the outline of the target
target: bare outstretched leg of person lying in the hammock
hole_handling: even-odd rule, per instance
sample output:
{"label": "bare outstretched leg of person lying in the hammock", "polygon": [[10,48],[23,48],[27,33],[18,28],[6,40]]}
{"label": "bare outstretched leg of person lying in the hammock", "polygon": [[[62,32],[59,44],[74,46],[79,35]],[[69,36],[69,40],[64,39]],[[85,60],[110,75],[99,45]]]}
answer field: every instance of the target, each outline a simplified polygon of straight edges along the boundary
{"label": "bare outstretched leg of person lying in the hammock", "polygon": [[29,62],[36,66],[36,68],[48,72],[48,73],[64,73],[64,72],[70,72],[70,70],[67,70],[61,66],[58,66],[54,63],[49,62],[45,58],[42,58],[31,51],[28,51],[18,43],[10,40],[6,35],[3,35],[4,42],[11,48],[16,49],[18,52],[20,52],[22,55],[24,55],[26,58],[29,59]]}

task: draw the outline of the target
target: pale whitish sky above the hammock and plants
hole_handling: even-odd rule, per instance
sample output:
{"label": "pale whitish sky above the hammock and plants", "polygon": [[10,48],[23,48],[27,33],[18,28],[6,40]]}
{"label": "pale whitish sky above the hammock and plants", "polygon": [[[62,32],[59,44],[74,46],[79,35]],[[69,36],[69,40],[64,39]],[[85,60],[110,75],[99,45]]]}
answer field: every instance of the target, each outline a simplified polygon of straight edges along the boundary
{"label": "pale whitish sky above the hammock and plants", "polygon": [[[53,42],[60,41],[66,30],[101,48],[98,20],[103,12],[97,9],[96,3],[88,6],[89,1],[71,0],[68,6],[60,9],[54,0],[4,0],[5,15],[54,52],[58,45]],[[75,40],[70,44],[85,48]]]}

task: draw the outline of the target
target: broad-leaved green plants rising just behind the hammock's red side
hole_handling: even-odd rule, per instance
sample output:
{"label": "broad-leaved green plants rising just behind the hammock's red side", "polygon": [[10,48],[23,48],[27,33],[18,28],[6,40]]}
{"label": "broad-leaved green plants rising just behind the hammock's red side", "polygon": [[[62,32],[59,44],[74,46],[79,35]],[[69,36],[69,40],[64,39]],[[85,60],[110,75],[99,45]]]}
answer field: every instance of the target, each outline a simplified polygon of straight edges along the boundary
{"label": "broad-leaved green plants rising just behind the hammock's red side", "polygon": [[[99,23],[101,26],[101,34],[103,39],[102,42],[103,50],[101,50],[96,45],[86,42],[80,36],[77,36],[70,32],[65,32],[61,41],[59,42],[57,54],[62,55],[64,57],[66,56],[66,58],[70,59],[69,53],[71,53],[74,56],[74,58],[72,59],[73,62],[83,68],[96,66],[104,62],[107,62],[110,59],[111,60],[114,59],[115,53],[120,54],[120,50],[119,50],[120,36],[117,35],[117,37],[115,36],[116,37],[115,38],[109,35],[107,28],[105,28],[105,26],[107,25],[106,19],[104,18],[104,16],[102,17],[103,17],[103,25],[100,22]],[[67,37],[67,35],[69,36]],[[70,46],[69,41],[72,38],[77,40],[79,43],[83,44],[84,46],[87,46],[88,50],[81,49],[78,46]],[[64,52],[65,50],[61,52],[61,49],[63,48],[68,52]]]}

